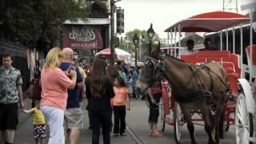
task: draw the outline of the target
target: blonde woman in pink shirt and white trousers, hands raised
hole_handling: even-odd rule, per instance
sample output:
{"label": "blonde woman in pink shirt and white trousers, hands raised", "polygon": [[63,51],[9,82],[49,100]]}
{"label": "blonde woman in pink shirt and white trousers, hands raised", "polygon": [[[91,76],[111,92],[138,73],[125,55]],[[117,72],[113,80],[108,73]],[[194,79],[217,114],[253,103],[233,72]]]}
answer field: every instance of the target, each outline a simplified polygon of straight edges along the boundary
{"label": "blonde woman in pink shirt and white trousers, hands raised", "polygon": [[58,68],[62,57],[60,48],[51,49],[41,73],[40,107],[50,127],[48,144],[65,144],[63,121],[67,89],[74,89],[77,80],[76,72],[71,68],[65,72]]}

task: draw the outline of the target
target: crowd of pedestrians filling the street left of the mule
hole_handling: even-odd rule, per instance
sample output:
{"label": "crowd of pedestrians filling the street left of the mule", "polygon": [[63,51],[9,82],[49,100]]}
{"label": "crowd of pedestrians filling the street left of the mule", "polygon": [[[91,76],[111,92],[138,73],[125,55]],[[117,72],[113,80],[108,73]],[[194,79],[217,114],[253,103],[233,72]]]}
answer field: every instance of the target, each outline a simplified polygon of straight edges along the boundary
{"label": "crowd of pedestrians filling the street left of the mule", "polygon": [[[5,144],[14,142],[18,106],[24,113],[32,114],[35,143],[46,142],[46,131],[49,127],[50,137],[47,143],[76,144],[84,128],[81,108],[84,98],[87,99],[86,110],[93,144],[99,143],[101,130],[104,144],[110,143],[112,128],[113,136],[126,135],[126,110],[130,110],[130,98],[140,98],[135,89],[139,74],[137,67],[122,62],[113,66],[100,58],[84,64],[74,57],[72,49],[54,47],[46,55],[44,65],[38,68],[41,99],[33,100],[34,106],[25,110],[22,74],[12,63],[10,54],[2,55],[0,129]],[[153,101],[158,102],[158,98]],[[152,117],[155,123],[158,114],[150,113],[150,120]],[[158,135],[154,128],[151,129],[152,134]]]}

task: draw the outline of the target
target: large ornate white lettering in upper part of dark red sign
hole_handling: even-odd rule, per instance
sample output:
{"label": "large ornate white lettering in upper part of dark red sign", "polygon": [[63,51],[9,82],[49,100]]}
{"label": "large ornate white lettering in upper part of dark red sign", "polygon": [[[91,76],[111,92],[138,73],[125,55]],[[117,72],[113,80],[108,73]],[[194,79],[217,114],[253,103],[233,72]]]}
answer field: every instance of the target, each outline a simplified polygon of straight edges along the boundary
{"label": "large ornate white lettering in upper part of dark red sign", "polygon": [[72,31],[69,36],[70,39],[78,42],[88,42],[96,38],[94,27],[90,26],[71,26]]}

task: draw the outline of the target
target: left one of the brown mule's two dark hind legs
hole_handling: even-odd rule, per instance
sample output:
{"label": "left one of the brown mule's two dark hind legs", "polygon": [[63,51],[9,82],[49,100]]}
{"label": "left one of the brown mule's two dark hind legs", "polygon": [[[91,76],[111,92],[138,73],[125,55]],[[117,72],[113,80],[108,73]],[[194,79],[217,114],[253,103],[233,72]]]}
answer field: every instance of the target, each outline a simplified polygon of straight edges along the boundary
{"label": "left one of the brown mule's two dark hind legs", "polygon": [[201,105],[200,110],[201,110],[202,118],[205,121],[205,130],[209,137],[208,144],[215,144],[216,142],[213,134],[214,127],[212,126],[213,121],[210,114],[211,113],[210,106],[207,106],[206,103],[203,103]]}

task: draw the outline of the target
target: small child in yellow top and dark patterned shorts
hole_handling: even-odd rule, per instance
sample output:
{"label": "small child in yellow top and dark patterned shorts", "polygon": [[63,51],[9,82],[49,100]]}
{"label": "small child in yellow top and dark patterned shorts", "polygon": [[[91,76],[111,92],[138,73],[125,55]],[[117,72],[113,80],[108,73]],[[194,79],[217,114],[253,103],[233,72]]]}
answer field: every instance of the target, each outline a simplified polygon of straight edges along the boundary
{"label": "small child in yellow top and dark patterned shorts", "polygon": [[39,102],[35,102],[35,107],[30,110],[23,110],[24,113],[33,113],[34,140],[36,144],[44,144],[46,138],[46,118],[42,114]]}

